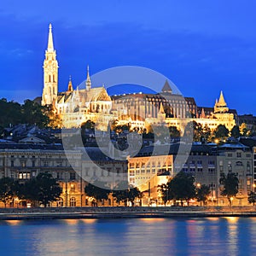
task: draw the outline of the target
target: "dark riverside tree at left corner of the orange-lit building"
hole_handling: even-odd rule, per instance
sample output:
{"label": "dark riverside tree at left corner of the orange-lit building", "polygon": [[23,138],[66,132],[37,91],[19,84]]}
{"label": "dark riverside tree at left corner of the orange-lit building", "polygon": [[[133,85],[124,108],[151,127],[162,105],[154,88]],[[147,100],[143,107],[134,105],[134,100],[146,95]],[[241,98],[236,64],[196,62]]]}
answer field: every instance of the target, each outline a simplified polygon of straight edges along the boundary
{"label": "dark riverside tree at left corner of the orange-lit building", "polygon": [[143,193],[139,189],[128,184],[128,182],[121,182],[113,190],[113,197],[118,203],[121,201],[124,202],[125,206],[127,206],[128,201],[130,201],[131,206],[133,207],[135,200],[137,198],[142,198]]}

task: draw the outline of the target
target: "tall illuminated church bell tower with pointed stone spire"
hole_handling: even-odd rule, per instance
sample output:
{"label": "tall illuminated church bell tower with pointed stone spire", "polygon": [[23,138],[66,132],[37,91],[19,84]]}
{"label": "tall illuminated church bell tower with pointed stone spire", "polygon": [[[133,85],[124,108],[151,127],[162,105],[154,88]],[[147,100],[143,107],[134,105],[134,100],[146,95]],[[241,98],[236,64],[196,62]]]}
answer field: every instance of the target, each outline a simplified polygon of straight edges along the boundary
{"label": "tall illuminated church bell tower with pointed stone spire", "polygon": [[58,61],[56,60],[56,51],[54,49],[52,27],[49,24],[48,47],[45,50],[44,59],[44,89],[42,96],[42,105],[49,105],[55,102],[58,94]]}

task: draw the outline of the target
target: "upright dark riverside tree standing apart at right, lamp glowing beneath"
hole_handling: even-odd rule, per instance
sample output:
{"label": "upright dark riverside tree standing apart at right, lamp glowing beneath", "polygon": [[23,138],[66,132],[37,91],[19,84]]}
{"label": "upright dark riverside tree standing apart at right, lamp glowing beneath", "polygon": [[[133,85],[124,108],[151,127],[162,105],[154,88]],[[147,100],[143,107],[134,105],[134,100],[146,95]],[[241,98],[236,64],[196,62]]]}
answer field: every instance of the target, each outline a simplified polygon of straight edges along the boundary
{"label": "upright dark riverside tree standing apart at right, lamp glowing beneath", "polygon": [[229,172],[227,175],[222,172],[220,174],[219,183],[224,187],[220,195],[227,196],[230,206],[232,203],[231,197],[236,196],[238,193],[239,180],[234,172]]}

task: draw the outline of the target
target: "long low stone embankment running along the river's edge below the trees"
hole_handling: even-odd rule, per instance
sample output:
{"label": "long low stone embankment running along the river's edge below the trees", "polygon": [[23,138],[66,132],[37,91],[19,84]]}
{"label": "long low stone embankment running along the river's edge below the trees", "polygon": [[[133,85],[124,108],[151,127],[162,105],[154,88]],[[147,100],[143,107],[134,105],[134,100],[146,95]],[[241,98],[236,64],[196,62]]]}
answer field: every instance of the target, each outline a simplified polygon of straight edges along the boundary
{"label": "long low stone embankment running along the river's edge below the trees", "polygon": [[254,207],[49,207],[0,208],[0,220],[55,218],[256,217]]}

